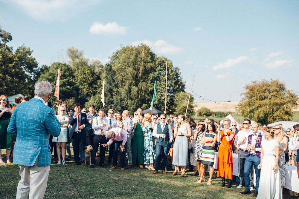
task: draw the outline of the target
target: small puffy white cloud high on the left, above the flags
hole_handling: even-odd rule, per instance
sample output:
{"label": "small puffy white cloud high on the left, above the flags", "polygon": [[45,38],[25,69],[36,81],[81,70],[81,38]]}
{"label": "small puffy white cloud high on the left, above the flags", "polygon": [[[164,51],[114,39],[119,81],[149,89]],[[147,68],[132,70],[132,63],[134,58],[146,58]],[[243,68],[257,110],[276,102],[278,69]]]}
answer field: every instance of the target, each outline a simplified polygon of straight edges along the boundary
{"label": "small puffy white cloud high on the left, above the flags", "polygon": [[91,34],[126,34],[126,26],[120,26],[116,22],[108,23],[106,25],[99,21],[94,22],[89,29]]}

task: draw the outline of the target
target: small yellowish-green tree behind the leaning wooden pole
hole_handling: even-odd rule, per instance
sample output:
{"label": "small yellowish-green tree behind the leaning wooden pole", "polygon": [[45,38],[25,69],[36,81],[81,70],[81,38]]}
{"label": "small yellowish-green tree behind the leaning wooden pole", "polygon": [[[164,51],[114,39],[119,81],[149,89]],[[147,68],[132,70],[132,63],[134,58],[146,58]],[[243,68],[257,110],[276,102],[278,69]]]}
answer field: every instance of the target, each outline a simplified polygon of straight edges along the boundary
{"label": "small yellowish-green tree behind the leaning wooden pole", "polygon": [[[177,115],[185,115],[186,113],[186,109],[187,109],[187,104],[188,104],[188,98],[189,98],[189,94],[186,92],[177,92],[176,93],[176,97],[174,99],[174,114]],[[190,102],[189,102],[189,106],[188,106],[188,110],[187,110],[187,118],[191,117],[191,115],[193,115],[194,112],[194,104],[193,104],[194,98],[191,95],[190,96]]]}

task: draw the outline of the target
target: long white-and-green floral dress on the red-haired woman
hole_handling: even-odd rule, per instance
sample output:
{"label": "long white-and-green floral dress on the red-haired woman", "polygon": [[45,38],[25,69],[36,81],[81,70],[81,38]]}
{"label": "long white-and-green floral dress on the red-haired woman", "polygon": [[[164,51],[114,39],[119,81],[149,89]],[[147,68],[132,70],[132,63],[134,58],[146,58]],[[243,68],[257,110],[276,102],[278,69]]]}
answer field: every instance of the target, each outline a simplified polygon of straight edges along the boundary
{"label": "long white-and-green floral dress on the red-haired woman", "polygon": [[147,127],[143,127],[143,131],[145,131],[144,135],[144,150],[143,150],[143,157],[144,157],[144,164],[153,163],[156,159],[156,146],[154,137],[152,136],[153,129],[151,128],[152,124],[149,124]]}

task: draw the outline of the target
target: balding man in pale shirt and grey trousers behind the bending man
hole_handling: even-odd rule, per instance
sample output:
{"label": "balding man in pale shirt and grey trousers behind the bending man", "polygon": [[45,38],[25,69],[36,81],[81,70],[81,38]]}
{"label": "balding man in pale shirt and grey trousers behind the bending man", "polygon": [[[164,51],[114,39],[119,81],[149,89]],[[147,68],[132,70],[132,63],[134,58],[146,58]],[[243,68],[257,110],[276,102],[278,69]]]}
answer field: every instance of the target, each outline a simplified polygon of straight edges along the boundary
{"label": "balding man in pale shirt and grey trousers behind the bending man", "polygon": [[[141,110],[142,111],[142,110]],[[127,169],[132,168],[132,152],[131,152],[131,139],[132,139],[132,128],[133,122],[132,119],[129,117],[129,111],[123,111],[123,124],[118,124],[118,127],[122,128],[126,131],[127,134],[127,141],[125,144],[126,153],[128,155],[128,165],[126,166]]]}

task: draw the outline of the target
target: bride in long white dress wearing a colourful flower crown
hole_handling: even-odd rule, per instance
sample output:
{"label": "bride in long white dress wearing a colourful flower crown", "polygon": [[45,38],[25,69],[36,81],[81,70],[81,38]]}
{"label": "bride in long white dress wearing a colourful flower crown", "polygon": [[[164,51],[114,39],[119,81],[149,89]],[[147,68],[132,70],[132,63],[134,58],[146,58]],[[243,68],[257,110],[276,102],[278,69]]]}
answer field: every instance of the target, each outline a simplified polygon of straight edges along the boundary
{"label": "bride in long white dress wearing a colourful flower crown", "polygon": [[279,143],[274,139],[275,129],[264,127],[262,131],[266,139],[262,140],[261,163],[257,166],[261,172],[256,199],[281,199],[280,173],[277,168]]}

